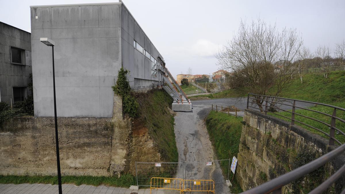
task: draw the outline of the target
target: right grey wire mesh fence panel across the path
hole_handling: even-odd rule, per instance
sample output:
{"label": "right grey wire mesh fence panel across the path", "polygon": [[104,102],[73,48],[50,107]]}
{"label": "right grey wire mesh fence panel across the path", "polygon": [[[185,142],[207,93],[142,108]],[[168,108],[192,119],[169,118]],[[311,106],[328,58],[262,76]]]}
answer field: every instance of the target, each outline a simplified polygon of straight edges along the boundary
{"label": "right grey wire mesh fence panel across the path", "polygon": [[[230,159],[185,164],[185,180],[213,180],[225,183],[229,180]],[[223,176],[222,176],[223,175]]]}

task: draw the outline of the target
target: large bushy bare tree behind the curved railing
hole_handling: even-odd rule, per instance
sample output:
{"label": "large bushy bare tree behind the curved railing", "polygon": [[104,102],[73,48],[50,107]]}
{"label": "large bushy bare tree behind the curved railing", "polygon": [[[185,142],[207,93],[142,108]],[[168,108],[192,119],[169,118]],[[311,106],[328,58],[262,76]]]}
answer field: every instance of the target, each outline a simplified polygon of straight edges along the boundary
{"label": "large bushy bare tree behind the curved railing", "polygon": [[[303,40],[296,29],[278,31],[276,25],[267,25],[257,19],[247,25],[240,21],[237,35],[219,50],[218,65],[233,71],[250,92],[275,96],[282,95],[292,83],[298,69],[292,64],[298,59]],[[257,99],[260,106],[263,99]]]}

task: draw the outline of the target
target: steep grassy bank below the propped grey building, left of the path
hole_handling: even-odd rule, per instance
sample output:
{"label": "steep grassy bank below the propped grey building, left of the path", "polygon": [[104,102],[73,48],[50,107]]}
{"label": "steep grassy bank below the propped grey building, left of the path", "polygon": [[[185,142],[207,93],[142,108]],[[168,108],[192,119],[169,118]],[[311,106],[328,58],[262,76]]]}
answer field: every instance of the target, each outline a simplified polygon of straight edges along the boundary
{"label": "steep grassy bank below the propped grey building, left of the path", "polygon": [[162,89],[135,93],[139,103],[139,117],[148,128],[161,157],[167,162],[178,162],[174,132],[174,117],[170,114],[172,98]]}

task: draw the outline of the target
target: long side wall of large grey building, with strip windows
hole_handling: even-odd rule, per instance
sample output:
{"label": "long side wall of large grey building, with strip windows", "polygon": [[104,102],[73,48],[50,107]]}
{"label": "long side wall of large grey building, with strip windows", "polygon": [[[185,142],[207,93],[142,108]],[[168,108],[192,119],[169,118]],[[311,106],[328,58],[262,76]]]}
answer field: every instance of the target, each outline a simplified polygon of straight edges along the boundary
{"label": "long side wall of large grey building, with strip windows", "polygon": [[158,77],[151,77],[151,61],[134,48],[133,41],[136,40],[156,60],[159,52],[124,4],[121,6],[121,23],[122,61],[124,67],[130,71],[130,85],[133,89],[151,88],[152,83],[158,83]]}

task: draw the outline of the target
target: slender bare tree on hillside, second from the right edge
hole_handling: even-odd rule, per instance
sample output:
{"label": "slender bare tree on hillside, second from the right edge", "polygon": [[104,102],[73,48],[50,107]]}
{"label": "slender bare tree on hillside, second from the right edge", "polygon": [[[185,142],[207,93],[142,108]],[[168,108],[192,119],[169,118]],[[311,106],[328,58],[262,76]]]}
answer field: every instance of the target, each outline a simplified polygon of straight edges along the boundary
{"label": "slender bare tree on hillside, second from the right edge", "polygon": [[323,76],[327,79],[329,71],[331,70],[331,66],[333,64],[331,50],[328,46],[319,46],[315,52],[315,59],[317,60],[318,66],[321,68],[321,72]]}

